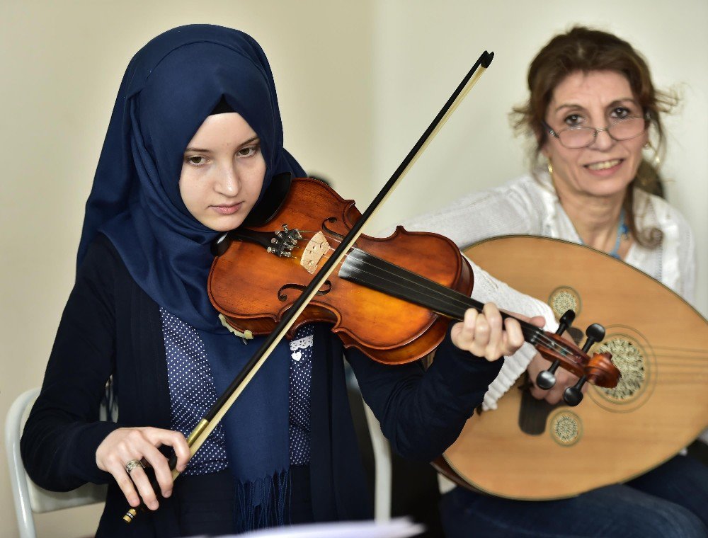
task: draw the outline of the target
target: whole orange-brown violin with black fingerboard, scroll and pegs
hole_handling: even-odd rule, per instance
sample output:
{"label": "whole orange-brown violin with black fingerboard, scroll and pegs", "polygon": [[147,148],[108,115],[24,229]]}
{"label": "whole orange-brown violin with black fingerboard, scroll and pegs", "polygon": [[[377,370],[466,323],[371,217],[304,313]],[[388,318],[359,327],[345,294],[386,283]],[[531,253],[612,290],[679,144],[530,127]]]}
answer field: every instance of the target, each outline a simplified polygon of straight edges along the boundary
{"label": "whole orange-brown violin with black fingerboard, scroll and pegs", "polygon": [[[244,338],[270,333],[360,217],[353,200],[343,200],[321,181],[292,180],[267,223],[220,238],[208,281],[212,305]],[[327,322],[346,348],[387,364],[411,362],[438,347],[451,319],[462,320],[469,308],[481,311],[484,305],[469,297],[473,285],[469,262],[444,236],[403,227],[387,238],[360,235],[287,336],[302,324]],[[573,317],[569,311],[561,318],[561,333]],[[616,386],[619,370],[612,355],[588,356],[604,337],[602,326],[588,328],[581,349],[560,333],[518,321],[525,340],[555,365],[542,372],[540,386],[552,386],[559,366],[582,381],[566,391],[571,405],[581,401],[586,382]]]}

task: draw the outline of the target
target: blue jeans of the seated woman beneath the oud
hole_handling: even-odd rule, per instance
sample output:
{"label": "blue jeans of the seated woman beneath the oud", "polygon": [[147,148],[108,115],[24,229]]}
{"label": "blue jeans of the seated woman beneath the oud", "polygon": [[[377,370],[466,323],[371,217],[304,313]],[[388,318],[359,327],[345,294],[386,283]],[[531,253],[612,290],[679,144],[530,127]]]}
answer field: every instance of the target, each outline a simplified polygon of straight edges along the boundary
{"label": "blue jeans of the seated woman beneath the oud", "polygon": [[440,516],[447,538],[705,538],[708,467],[677,456],[627,483],[562,500],[510,500],[455,488],[442,496]]}

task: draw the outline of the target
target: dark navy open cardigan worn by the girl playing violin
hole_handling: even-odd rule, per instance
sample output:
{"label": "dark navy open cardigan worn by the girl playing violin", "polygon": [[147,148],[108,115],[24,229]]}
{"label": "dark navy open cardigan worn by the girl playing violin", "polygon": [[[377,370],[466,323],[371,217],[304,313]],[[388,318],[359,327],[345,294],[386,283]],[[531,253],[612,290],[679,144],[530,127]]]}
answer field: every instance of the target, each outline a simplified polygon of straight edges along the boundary
{"label": "dark navy open cardigan worn by the girl playing violin", "polygon": [[[350,414],[340,340],[316,327],[312,372],[312,505],[316,521],[371,517]],[[392,449],[429,462],[454,442],[481,403],[501,360],[487,362],[455,348],[449,335],[427,372],[418,362],[389,366],[356,350],[346,357],[362,395]],[[105,382],[113,374],[118,423],[98,420]],[[171,498],[155,513],[122,522],[127,501],[96,466],[96,448],[125,426],[169,429],[171,413],[159,306],[135,283],[113,244],[99,235],[89,249],[64,309],[42,391],[25,425],[22,457],[39,486],[69,491],[109,483],[97,536],[178,536]],[[176,481],[178,488],[180,481]]]}

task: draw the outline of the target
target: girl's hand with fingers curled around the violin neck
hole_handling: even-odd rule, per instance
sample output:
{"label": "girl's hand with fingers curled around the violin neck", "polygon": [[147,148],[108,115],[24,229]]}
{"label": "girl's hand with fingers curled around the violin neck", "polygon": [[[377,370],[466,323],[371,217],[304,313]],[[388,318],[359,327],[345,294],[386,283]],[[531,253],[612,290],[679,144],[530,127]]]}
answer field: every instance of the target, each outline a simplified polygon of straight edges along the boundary
{"label": "girl's hand with fingers curled around the violin neck", "polygon": [[[542,316],[513,316],[539,327],[544,325]],[[499,309],[493,303],[485,304],[481,312],[468,309],[464,314],[464,321],[452,327],[450,336],[457,348],[489,361],[504,355],[513,355],[524,343],[519,322],[512,318],[503,320]]]}

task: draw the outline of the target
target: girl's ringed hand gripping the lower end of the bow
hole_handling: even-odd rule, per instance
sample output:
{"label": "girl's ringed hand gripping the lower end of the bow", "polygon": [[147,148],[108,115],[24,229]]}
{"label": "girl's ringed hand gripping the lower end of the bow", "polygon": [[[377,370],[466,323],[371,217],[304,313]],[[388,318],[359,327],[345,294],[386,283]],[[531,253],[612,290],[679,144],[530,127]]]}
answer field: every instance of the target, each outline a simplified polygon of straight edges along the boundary
{"label": "girl's ringed hand gripping the lower end of the bow", "polygon": [[147,462],[155,471],[162,496],[169,497],[172,494],[172,471],[167,458],[157,450],[162,445],[174,449],[177,470],[184,471],[190,458],[189,445],[184,435],[172,430],[149,427],[118,428],[108,434],[96,449],[96,465],[101,471],[113,475],[128,504],[135,508],[142,498],[147,508],[156,510],[159,506],[157,496],[144,469],[135,467],[128,474],[125,466],[132,459]]}

